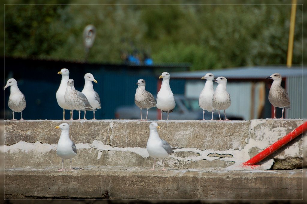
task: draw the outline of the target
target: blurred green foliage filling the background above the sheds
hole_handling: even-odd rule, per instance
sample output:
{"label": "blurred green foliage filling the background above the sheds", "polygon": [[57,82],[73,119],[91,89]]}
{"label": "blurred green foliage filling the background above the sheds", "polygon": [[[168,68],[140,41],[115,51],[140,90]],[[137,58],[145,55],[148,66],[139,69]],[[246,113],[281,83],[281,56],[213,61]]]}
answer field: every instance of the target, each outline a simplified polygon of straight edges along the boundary
{"label": "blurred green foliage filling the background above the sheds", "polygon": [[[286,64],[291,5],[106,3],[5,5],[5,55],[82,61],[83,29],[93,24],[89,62],[121,63],[121,51],[137,49],[155,63],[190,62],[191,70]],[[302,13],[297,5],[293,64],[300,65]]]}

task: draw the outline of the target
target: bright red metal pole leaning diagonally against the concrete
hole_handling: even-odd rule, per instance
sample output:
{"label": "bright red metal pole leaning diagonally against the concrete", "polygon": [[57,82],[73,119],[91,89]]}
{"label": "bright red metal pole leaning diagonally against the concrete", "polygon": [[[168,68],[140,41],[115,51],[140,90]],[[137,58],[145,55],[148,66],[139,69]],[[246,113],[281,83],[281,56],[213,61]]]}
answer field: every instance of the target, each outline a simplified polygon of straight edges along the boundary
{"label": "bright red metal pole leaning diagonally against the concrete", "polygon": [[302,134],[307,130],[307,122],[303,123],[301,126],[298,126],[295,128],[292,132],[272,144],[271,146],[267,147],[262,152],[258,153],[256,156],[248,160],[247,162],[244,162],[243,165],[255,165],[258,162],[260,162],[262,159],[266,158],[270,154],[272,154],[274,151],[278,150],[294,138],[296,138],[298,135]]}

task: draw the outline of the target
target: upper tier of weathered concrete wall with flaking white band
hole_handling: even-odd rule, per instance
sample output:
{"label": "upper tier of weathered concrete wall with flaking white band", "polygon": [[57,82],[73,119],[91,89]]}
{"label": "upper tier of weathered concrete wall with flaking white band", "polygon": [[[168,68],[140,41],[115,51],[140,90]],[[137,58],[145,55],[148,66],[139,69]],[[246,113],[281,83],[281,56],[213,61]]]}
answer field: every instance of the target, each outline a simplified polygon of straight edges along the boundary
{"label": "upper tier of weathered concrete wall with flaking white band", "polygon": [[[67,121],[76,143],[73,166],[150,167],[146,143],[150,122],[131,120]],[[157,121],[158,133],[173,147],[166,159],[171,168],[222,169],[249,158],[302,124],[302,120],[258,119],[251,121],[203,122]],[[62,121],[5,121],[5,168],[61,166],[56,155]],[[269,158],[273,169],[302,167],[302,136]],[[64,161],[65,166],[69,160]],[[158,161],[158,164],[162,164]]]}

